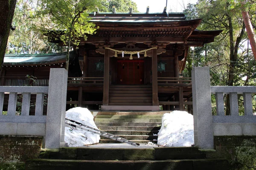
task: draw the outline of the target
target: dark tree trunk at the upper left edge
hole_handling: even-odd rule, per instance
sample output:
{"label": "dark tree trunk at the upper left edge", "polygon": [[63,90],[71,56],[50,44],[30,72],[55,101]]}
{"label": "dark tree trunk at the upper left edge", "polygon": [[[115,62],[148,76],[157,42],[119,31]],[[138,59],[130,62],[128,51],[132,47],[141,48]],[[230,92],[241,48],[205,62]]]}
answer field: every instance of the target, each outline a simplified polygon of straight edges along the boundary
{"label": "dark tree trunk at the upper left edge", "polygon": [[15,5],[16,0],[0,0],[0,70],[3,66]]}

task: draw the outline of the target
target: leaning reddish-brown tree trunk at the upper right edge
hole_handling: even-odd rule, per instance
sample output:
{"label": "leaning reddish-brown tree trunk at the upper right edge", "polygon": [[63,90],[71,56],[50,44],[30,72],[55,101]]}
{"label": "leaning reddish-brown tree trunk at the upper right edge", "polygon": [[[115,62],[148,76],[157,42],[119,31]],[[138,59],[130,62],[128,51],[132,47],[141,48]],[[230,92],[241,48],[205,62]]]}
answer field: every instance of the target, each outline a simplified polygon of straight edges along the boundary
{"label": "leaning reddish-brown tree trunk at the upper right edge", "polygon": [[254,56],[254,59],[256,60],[256,37],[253,31],[252,23],[250,22],[250,16],[248,14],[248,11],[242,11],[242,14],[243,14],[244,24],[248,34],[248,38],[250,40],[250,45],[253,51],[253,56]]}

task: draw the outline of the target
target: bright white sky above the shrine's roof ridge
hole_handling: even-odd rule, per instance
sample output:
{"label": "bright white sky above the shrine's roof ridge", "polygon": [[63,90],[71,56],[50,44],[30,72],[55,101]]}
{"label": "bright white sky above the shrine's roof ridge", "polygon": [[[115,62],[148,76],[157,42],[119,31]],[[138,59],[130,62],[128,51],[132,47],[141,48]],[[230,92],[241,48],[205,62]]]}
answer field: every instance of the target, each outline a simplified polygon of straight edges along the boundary
{"label": "bright white sky above the shrine's roof ridge", "polygon": [[[146,12],[149,6],[149,12],[163,12],[166,6],[166,0],[132,0],[137,3],[137,8],[140,12]],[[188,3],[196,3],[197,0],[167,0],[167,11],[182,12]]]}

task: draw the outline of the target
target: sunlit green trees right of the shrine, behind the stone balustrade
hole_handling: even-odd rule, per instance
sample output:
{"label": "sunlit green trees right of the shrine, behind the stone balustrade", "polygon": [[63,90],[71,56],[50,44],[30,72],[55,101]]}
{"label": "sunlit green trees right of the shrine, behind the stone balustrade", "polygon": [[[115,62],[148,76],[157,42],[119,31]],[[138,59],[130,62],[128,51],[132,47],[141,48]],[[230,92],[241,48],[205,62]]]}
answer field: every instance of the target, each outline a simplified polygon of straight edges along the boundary
{"label": "sunlit green trees right of the shrine, behind the stone balustrade", "polygon": [[[241,1],[239,1],[241,2]],[[247,1],[248,2],[248,1]],[[211,85],[256,85],[256,67],[246,32],[242,34],[241,6],[233,6],[230,0],[198,0],[188,4],[184,11],[187,19],[203,18],[199,30],[223,30],[215,42],[195,47],[189,51],[183,74],[188,75],[194,66],[210,68]],[[255,3],[249,6],[251,22],[255,25]],[[241,39],[241,40],[240,40]],[[183,76],[184,77],[184,76]],[[232,83],[230,83],[232,81]],[[239,98],[239,113],[244,114],[243,97]],[[225,110],[228,107],[224,95]],[[253,96],[253,112],[255,109]],[[216,114],[215,97],[212,95],[212,111]]]}

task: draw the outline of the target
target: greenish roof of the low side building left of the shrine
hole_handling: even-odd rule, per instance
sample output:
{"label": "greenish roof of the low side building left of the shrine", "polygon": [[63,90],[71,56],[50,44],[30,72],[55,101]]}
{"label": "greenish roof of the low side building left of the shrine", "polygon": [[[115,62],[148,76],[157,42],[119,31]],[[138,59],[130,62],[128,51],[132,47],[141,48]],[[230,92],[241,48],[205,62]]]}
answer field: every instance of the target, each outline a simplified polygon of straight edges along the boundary
{"label": "greenish roof of the low side building left of the shrine", "polygon": [[[46,65],[66,62],[66,53],[58,54],[5,54],[3,65]],[[70,58],[73,58],[70,54]]]}

